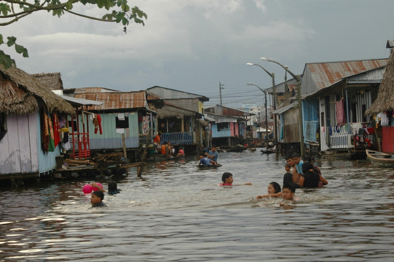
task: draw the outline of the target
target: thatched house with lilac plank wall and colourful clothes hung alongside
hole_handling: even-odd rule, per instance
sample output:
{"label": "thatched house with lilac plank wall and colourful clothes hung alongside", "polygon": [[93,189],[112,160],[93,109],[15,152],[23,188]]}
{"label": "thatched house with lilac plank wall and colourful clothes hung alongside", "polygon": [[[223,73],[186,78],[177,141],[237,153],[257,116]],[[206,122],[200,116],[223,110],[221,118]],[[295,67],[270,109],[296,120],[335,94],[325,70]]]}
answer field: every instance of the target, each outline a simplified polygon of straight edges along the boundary
{"label": "thatched house with lilac plank wall and colourful clothes hung alongside", "polygon": [[0,178],[50,174],[61,152],[56,120],[74,114],[68,102],[32,75],[0,67]]}

